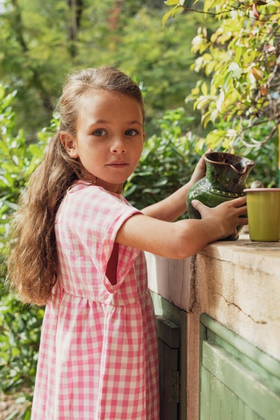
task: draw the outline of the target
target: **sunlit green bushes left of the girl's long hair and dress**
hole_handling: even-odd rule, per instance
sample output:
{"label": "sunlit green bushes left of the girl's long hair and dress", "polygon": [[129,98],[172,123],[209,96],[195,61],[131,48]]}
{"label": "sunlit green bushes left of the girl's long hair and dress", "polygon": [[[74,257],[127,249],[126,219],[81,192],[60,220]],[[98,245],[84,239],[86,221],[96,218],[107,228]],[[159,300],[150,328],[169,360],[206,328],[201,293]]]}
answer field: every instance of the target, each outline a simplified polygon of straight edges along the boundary
{"label": "sunlit green bushes left of the girl's long hair and dress", "polygon": [[[17,400],[22,406],[15,410],[13,419],[30,418],[32,388],[35,382],[37,355],[43,309],[23,305],[8,292],[6,257],[12,214],[17,209],[19,195],[24,191],[30,174],[40,162],[51,132],[38,133],[36,144],[28,145],[23,131],[12,135],[15,114],[12,110],[13,94],[5,96],[0,85],[0,391],[14,395],[21,389]],[[56,128],[56,119],[51,129]]]}

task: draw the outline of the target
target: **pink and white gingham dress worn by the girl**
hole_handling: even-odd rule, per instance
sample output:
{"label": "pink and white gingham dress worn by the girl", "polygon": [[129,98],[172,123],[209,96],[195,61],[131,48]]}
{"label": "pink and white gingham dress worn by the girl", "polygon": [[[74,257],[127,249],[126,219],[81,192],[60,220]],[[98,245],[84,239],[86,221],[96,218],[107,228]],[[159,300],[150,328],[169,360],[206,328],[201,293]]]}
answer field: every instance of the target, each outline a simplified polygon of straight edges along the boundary
{"label": "pink and white gingham dress worn by the girl", "polygon": [[159,420],[157,334],[145,256],[119,245],[140,213],[121,194],[77,182],[56,216],[59,276],[45,309],[32,420]]}

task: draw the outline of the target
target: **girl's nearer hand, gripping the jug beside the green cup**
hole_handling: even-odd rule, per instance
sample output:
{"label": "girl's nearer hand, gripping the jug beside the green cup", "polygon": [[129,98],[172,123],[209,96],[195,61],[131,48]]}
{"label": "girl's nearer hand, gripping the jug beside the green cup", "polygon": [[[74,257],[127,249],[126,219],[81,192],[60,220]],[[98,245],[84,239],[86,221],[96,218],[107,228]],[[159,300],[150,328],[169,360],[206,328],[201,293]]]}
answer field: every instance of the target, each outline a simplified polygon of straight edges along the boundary
{"label": "girl's nearer hand, gripping the jug beside the green cup", "polygon": [[248,219],[243,216],[247,213],[246,196],[226,201],[217,207],[210,208],[198,200],[191,202],[192,206],[201,214],[201,218],[207,221],[212,219],[214,229],[217,229],[217,238],[224,239],[229,235],[236,236],[236,227],[248,225]]}

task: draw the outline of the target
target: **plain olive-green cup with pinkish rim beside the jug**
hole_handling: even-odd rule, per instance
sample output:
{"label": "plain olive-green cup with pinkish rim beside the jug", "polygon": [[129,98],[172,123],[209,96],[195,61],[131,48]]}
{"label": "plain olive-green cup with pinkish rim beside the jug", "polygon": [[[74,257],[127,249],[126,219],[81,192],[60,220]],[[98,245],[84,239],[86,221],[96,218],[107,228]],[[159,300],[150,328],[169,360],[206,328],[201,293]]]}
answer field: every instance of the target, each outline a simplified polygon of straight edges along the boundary
{"label": "plain olive-green cup with pinkish rim beside the jug", "polygon": [[247,189],[247,213],[251,241],[280,240],[280,188]]}

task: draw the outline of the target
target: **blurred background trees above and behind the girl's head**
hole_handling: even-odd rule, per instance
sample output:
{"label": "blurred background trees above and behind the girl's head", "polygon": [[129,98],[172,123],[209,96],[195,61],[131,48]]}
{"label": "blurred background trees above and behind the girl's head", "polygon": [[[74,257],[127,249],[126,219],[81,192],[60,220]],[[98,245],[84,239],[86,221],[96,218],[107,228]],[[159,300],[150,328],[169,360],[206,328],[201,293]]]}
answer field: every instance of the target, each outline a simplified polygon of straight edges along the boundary
{"label": "blurred background trees above and behind the girl's head", "polygon": [[[76,4],[79,2],[77,1]],[[0,14],[0,82],[18,90],[16,129],[34,141],[49,124],[65,76],[73,67],[115,65],[144,82],[149,117],[184,104],[199,76],[190,76],[191,39],[203,20],[161,25],[162,10],[147,0],[5,0]],[[163,3],[162,3],[163,4]],[[75,32],[75,34],[74,34]],[[184,95],[182,95],[184,92]],[[199,123],[199,113],[194,121]]]}

